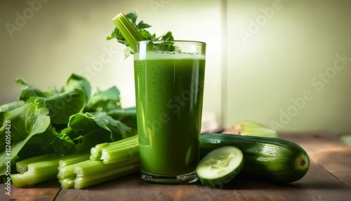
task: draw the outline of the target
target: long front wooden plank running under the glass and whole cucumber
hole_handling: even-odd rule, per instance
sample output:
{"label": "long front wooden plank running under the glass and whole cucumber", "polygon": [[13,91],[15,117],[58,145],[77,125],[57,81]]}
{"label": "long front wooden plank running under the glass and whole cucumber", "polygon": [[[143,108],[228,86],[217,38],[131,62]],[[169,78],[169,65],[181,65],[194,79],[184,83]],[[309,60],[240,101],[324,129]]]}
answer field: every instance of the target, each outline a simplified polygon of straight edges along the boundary
{"label": "long front wooden plank running under the glass and whole cucumber", "polygon": [[348,200],[351,188],[312,162],[300,181],[279,185],[234,179],[225,188],[213,189],[197,182],[161,185],[141,181],[138,174],[91,188],[62,189],[57,200]]}

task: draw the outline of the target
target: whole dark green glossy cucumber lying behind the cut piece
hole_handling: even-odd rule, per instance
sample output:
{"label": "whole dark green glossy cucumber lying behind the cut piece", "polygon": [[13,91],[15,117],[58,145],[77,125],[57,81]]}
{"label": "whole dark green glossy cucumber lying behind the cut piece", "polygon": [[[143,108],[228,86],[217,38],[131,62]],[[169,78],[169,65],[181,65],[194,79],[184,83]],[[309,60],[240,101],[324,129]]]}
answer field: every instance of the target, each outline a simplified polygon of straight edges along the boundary
{"label": "whole dark green glossy cucumber lying behind the cut piece", "polygon": [[[310,157],[300,145],[282,138],[205,134],[200,140],[200,155],[232,145],[244,155],[244,166],[238,176],[271,183],[298,181],[310,167]],[[305,162],[304,164],[301,164]]]}

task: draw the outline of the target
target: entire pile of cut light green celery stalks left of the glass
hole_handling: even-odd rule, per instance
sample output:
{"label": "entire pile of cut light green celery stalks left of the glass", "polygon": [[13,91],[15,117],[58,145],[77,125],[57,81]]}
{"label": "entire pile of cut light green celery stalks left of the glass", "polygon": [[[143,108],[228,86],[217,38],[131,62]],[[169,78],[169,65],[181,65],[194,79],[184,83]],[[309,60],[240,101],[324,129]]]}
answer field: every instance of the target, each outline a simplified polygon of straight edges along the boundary
{"label": "entire pile of cut light green celery stalks left of the glass", "polygon": [[86,188],[139,171],[139,161],[138,136],[131,136],[96,145],[91,153],[22,160],[16,163],[20,173],[11,174],[11,180],[16,187],[58,179],[61,188]]}

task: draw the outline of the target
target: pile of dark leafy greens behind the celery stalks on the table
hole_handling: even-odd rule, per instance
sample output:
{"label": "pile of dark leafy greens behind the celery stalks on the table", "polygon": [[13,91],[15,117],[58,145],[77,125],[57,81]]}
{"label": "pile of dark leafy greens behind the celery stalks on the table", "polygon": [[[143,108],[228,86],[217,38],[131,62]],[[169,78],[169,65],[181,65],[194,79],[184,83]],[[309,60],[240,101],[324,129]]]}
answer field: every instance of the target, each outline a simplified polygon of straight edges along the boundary
{"label": "pile of dark leafy greens behind the celery stalks on the table", "polygon": [[18,160],[81,153],[136,134],[135,108],[121,108],[116,86],[91,95],[90,83],[77,74],[60,91],[16,82],[23,86],[19,100],[0,105],[0,177],[8,158],[14,171]]}

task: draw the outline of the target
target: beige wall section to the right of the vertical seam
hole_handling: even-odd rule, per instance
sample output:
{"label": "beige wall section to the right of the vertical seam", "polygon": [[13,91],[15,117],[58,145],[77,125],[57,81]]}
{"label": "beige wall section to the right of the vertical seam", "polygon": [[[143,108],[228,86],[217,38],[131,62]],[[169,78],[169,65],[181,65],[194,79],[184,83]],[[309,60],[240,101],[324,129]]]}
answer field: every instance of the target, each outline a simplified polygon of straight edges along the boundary
{"label": "beige wall section to the right of the vertical seam", "polygon": [[227,1],[225,124],[350,132],[350,19],[351,1]]}

